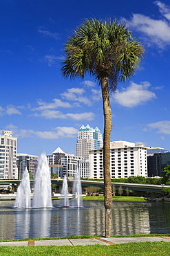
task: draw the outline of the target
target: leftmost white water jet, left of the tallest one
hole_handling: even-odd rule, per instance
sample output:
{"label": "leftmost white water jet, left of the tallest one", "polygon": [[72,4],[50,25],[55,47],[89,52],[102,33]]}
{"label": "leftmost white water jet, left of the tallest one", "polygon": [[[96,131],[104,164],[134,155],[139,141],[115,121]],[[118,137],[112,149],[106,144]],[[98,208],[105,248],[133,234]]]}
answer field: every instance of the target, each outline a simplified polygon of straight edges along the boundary
{"label": "leftmost white water jet, left of the tallest one", "polygon": [[17,197],[15,199],[14,207],[17,208],[30,208],[31,205],[31,189],[30,189],[30,176],[25,167],[23,178],[17,190]]}

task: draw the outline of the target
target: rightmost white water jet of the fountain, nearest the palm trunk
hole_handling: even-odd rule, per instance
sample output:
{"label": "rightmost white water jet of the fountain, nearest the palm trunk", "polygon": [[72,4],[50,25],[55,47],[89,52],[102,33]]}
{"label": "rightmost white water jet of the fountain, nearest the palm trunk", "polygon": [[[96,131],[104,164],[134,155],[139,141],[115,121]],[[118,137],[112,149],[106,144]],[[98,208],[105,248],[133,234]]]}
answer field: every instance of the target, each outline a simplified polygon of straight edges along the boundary
{"label": "rightmost white water jet of the fountain, nearest the palm trunk", "polygon": [[80,173],[77,171],[74,176],[74,183],[73,183],[73,194],[75,195],[75,199],[77,201],[77,207],[82,206],[82,189],[81,189],[81,178]]}

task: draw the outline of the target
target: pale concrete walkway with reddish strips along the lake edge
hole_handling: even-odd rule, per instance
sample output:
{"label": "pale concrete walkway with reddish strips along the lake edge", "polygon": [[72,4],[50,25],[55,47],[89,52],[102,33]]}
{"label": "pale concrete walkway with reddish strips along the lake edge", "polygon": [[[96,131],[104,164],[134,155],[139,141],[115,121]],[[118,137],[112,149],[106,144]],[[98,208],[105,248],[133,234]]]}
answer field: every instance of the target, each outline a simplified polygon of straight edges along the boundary
{"label": "pale concrete walkway with reddish strips along the lake edge", "polygon": [[139,241],[167,241],[170,237],[110,237],[110,238],[84,238],[84,239],[55,239],[40,241],[8,241],[0,242],[0,246],[86,246],[93,244],[109,245],[134,243]]}

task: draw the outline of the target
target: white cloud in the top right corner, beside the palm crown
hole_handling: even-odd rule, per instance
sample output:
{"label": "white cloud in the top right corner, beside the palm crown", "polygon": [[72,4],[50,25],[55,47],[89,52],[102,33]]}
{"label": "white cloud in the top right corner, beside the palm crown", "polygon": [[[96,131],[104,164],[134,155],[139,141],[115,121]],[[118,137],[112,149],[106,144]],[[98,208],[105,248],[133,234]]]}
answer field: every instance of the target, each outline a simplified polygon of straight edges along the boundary
{"label": "white cloud in the top right corner, beside the palm crown", "polygon": [[[156,44],[158,47],[163,48],[170,44],[170,9],[160,1],[155,2],[159,6],[160,13],[167,18],[167,21],[162,19],[151,19],[148,16],[141,14],[133,14],[130,21],[123,19],[127,26],[135,28],[142,35],[147,35],[150,46]],[[141,36],[141,35],[140,35]]]}

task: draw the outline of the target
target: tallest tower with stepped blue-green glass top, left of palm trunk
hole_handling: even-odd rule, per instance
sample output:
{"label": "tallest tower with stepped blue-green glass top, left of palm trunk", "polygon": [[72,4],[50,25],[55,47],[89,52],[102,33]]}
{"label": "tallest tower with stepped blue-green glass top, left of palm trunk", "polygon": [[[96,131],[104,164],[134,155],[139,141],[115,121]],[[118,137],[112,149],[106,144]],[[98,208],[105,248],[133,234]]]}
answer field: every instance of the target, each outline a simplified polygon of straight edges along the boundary
{"label": "tallest tower with stepped blue-green glass top, left of palm trunk", "polygon": [[76,156],[83,156],[85,161],[89,161],[89,150],[97,150],[101,147],[103,147],[103,140],[98,127],[93,129],[89,125],[86,127],[82,125],[76,141]]}

